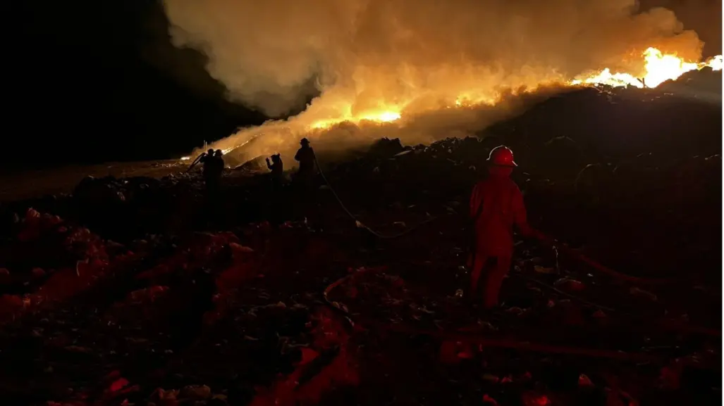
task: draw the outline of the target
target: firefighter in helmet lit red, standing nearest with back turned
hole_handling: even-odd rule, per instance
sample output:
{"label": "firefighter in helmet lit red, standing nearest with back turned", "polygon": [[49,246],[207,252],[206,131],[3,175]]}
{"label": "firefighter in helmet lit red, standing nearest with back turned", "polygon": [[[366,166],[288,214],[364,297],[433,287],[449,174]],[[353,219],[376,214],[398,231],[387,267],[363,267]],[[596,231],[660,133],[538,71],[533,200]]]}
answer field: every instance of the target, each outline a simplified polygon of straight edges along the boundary
{"label": "firefighter in helmet lit red, standing nearest with back turned", "polygon": [[484,308],[497,306],[498,293],[513,257],[513,225],[523,236],[537,236],[528,225],[521,189],[510,179],[513,151],[501,145],[490,151],[489,176],[475,185],[470,199],[470,215],[475,227],[475,245],[471,267],[470,292],[476,295],[482,277]]}

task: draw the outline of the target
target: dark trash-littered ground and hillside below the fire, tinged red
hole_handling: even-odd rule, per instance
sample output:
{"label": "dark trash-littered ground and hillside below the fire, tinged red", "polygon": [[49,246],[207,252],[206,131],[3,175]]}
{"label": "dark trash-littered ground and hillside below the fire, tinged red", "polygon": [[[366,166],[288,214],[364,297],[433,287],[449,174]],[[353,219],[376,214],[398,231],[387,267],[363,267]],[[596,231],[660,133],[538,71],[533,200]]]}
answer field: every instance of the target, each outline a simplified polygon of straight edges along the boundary
{"label": "dark trash-littered ground and hillside below the fire, tinged red", "polygon": [[[720,134],[720,105],[585,90],[481,139],[319,156],[307,200],[246,168],[211,200],[131,173],[7,202],[4,404],[720,404]],[[560,242],[518,241],[485,312],[458,290],[500,143]]]}

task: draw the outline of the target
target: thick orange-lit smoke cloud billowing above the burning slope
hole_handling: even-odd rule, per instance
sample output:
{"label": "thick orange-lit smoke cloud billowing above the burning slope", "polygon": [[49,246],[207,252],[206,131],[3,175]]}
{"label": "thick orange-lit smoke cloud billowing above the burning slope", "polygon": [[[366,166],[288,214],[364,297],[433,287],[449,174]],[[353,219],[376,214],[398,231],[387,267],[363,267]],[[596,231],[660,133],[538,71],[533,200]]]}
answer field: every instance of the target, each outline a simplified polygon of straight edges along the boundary
{"label": "thick orange-lit smoke cloud billowing above the burning slope", "polygon": [[[164,0],[164,6],[174,45],[206,53],[209,73],[232,100],[279,116],[298,108],[306,84],[316,80],[321,95],[300,116],[218,144],[265,133],[269,140],[256,142],[264,144],[258,152],[316,121],[390,107],[403,113],[395,129],[422,121],[443,132],[442,120],[466,131],[481,123],[473,111],[440,113],[459,98],[503,98],[507,110],[521,104],[505,97],[508,90],[604,67],[642,72],[641,51],[649,46],[699,59],[703,45],[673,12],[638,13],[635,0]],[[482,121],[502,115],[485,111]]]}

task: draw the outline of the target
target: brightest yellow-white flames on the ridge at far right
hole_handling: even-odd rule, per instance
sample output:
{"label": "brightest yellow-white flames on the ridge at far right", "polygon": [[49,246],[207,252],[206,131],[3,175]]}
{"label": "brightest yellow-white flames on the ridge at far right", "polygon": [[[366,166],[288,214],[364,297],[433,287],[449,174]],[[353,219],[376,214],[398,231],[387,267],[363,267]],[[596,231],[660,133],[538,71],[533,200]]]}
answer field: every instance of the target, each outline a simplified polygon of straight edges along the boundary
{"label": "brightest yellow-white flames on the ridge at far right", "polygon": [[608,85],[613,87],[657,87],[667,80],[674,80],[686,72],[703,69],[709,66],[715,71],[722,69],[722,56],[718,55],[704,62],[687,62],[675,55],[664,54],[656,48],[648,48],[643,53],[645,73],[639,79],[628,73],[617,72],[612,74],[610,69],[604,69],[599,74],[578,78],[571,85]]}

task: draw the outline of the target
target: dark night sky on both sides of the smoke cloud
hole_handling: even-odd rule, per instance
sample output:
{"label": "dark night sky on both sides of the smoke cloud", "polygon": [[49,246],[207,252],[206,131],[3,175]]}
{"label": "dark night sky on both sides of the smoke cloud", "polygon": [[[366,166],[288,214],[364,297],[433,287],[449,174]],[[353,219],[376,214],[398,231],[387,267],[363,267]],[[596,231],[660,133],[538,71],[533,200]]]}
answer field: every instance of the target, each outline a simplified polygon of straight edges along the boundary
{"label": "dark night sky on both sides of the smoke cloud", "polygon": [[[674,9],[720,53],[720,1],[641,3]],[[169,43],[157,1],[17,4],[4,13],[3,170],[178,157],[266,119],[227,102],[203,56]]]}

